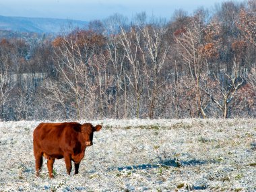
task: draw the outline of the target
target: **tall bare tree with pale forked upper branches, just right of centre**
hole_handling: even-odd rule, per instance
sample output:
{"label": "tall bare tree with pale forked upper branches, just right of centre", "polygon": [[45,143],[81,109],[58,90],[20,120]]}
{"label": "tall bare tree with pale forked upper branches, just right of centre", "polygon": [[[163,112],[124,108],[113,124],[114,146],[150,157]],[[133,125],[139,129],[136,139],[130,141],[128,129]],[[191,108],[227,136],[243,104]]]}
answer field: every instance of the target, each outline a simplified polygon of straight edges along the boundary
{"label": "tall bare tree with pale forked upper branches, just right of centre", "polygon": [[[141,30],[143,44],[138,44],[138,48],[142,53],[143,75],[146,76],[147,92],[148,92],[148,117],[155,117],[155,108],[157,99],[159,98],[160,88],[165,84],[167,77],[162,77],[161,72],[166,64],[166,55],[170,49],[170,45],[165,40],[164,35],[166,28],[164,22],[160,21],[156,24],[138,26]],[[139,36],[136,36],[137,38]],[[139,42],[139,39],[137,40]]]}

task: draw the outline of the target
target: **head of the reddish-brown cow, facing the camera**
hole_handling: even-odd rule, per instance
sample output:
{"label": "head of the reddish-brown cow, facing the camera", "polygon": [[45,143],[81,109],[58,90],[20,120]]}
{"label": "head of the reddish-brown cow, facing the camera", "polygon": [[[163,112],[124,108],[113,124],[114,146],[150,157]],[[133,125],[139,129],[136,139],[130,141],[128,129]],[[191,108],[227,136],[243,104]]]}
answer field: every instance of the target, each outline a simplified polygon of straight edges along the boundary
{"label": "head of the reddish-brown cow, facing the camera", "polygon": [[84,135],[86,146],[92,146],[92,139],[94,137],[94,131],[100,131],[102,125],[96,125],[94,127],[91,123],[84,123],[81,127],[81,132]]}

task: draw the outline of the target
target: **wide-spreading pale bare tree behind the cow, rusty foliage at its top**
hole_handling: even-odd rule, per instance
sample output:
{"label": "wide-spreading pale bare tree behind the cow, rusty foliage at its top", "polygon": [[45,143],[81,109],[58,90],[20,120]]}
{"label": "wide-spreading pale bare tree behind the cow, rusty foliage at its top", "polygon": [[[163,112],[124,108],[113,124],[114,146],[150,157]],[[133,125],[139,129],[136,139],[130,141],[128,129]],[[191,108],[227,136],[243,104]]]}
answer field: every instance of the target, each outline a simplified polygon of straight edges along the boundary
{"label": "wide-spreading pale bare tree behind the cow, rusty foliage at its top", "polygon": [[92,100],[96,102],[98,88],[93,57],[98,49],[96,44],[102,44],[102,36],[90,31],[77,30],[56,41],[57,70],[63,78],[63,83],[69,87],[69,94],[75,99],[77,118],[81,117],[81,112],[83,116],[85,113],[92,115]]}

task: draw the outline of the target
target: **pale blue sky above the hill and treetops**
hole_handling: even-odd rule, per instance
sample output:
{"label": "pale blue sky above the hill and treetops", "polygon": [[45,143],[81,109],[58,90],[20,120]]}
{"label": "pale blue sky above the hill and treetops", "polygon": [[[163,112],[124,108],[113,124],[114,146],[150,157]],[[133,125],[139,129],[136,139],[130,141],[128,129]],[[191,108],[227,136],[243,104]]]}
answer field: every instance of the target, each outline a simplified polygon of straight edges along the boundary
{"label": "pale blue sky above the hill and treetops", "polygon": [[199,7],[212,9],[222,2],[224,0],[0,0],[0,15],[89,22],[106,19],[114,13],[131,19],[136,13],[146,11],[147,15],[169,20],[176,9],[193,13]]}

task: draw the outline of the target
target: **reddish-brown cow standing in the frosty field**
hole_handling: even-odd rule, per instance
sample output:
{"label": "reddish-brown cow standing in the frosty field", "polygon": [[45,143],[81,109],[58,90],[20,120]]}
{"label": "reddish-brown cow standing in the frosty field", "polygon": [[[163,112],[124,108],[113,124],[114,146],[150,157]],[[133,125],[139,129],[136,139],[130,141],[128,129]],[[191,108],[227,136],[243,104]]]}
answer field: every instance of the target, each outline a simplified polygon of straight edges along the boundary
{"label": "reddish-brown cow standing in the frosty field", "polygon": [[84,158],[86,147],[92,146],[94,131],[100,131],[101,125],[93,127],[90,123],[40,123],[34,129],[34,157],[36,176],[42,168],[42,156],[47,159],[49,177],[53,178],[55,159],[65,159],[67,174],[71,172],[71,160],[75,162],[75,174]]}

